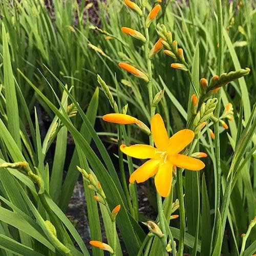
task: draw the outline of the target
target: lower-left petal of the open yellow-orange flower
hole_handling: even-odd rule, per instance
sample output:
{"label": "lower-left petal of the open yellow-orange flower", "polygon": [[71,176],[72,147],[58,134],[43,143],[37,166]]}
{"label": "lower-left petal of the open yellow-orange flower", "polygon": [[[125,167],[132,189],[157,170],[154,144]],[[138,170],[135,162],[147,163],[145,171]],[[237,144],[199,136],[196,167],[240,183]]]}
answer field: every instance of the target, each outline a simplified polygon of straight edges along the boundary
{"label": "lower-left petal of the open yellow-orange flower", "polygon": [[159,166],[159,160],[151,159],[142,164],[135,172],[130,176],[130,183],[134,183],[135,181],[140,183],[144,182],[150,177],[154,176],[157,172]]}

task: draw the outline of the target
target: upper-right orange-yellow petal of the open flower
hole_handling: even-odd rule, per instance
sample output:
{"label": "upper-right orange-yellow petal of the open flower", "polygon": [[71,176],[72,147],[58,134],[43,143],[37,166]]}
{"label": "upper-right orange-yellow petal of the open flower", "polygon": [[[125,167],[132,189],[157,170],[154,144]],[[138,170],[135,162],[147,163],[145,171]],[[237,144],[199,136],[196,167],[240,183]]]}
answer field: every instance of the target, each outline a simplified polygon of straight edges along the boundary
{"label": "upper-right orange-yellow petal of the open flower", "polygon": [[169,138],[168,144],[168,155],[176,155],[193,141],[195,134],[193,131],[184,129],[175,133],[172,137]]}

